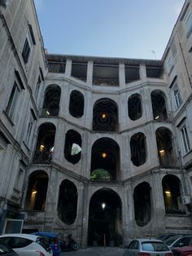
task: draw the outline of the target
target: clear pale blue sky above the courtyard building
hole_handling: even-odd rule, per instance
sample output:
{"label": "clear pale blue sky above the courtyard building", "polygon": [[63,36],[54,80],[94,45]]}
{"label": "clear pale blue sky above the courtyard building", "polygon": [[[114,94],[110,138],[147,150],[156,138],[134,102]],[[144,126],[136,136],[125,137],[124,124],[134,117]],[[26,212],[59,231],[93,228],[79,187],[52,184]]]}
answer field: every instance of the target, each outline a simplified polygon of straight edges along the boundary
{"label": "clear pale blue sky above the courtyard building", "polygon": [[185,0],[34,2],[49,53],[159,60]]}

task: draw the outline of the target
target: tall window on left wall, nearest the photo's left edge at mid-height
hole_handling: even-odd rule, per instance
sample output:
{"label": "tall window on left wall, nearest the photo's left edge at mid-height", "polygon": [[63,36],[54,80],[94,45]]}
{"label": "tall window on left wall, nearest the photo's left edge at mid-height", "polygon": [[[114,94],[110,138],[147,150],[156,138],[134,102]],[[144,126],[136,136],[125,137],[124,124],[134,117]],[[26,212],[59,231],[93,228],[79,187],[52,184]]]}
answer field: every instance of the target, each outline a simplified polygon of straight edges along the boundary
{"label": "tall window on left wall, nearest the photo's left edge at mid-height", "polygon": [[15,110],[19,93],[20,93],[19,87],[17,86],[17,83],[14,82],[14,86],[11,90],[11,96],[6,108],[6,113],[11,119],[13,119],[14,110]]}

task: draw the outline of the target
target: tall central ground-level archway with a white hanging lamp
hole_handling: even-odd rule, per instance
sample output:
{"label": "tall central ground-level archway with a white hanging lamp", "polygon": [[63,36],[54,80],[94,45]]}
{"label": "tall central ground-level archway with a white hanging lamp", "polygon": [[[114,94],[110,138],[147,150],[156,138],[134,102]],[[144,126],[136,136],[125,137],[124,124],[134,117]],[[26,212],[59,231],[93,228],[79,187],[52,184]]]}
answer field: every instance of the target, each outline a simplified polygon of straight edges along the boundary
{"label": "tall central ground-level archway with a white hanging lamp", "polygon": [[120,196],[111,189],[95,192],[89,202],[88,245],[120,246],[122,220]]}

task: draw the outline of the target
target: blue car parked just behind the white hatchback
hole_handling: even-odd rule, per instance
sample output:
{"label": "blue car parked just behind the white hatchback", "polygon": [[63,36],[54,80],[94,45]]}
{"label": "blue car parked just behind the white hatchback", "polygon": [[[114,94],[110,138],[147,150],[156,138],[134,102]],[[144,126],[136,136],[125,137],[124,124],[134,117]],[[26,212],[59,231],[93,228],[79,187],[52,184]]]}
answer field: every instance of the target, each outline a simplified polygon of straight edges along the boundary
{"label": "blue car parked just behind the white hatchback", "polygon": [[50,245],[54,256],[61,254],[59,236],[51,232],[34,232],[33,235],[41,236]]}

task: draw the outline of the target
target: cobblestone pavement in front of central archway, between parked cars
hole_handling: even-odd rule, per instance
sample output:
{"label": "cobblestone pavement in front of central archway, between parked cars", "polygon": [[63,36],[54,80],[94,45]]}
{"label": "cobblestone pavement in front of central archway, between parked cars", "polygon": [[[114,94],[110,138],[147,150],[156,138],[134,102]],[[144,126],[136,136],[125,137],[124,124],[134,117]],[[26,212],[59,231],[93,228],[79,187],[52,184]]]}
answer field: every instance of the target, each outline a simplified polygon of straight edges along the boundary
{"label": "cobblestone pavement in front of central archway, between parked cars", "polygon": [[61,256],[122,256],[124,249],[120,247],[90,247],[87,249],[79,249],[77,251],[63,252]]}

